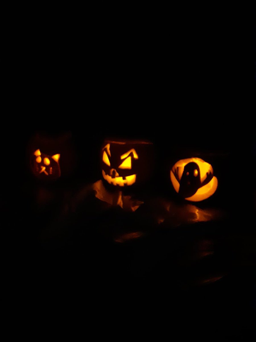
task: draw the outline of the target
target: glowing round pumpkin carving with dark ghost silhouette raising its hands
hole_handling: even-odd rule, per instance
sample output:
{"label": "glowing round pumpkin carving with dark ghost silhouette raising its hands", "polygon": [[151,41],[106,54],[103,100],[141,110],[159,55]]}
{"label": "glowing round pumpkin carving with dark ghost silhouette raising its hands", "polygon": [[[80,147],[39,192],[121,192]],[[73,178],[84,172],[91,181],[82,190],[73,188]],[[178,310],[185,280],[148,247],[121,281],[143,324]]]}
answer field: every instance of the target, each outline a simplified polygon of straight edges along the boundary
{"label": "glowing round pumpkin carving with dark ghost silhouette raising its hands", "polygon": [[175,191],[186,200],[202,201],[212,196],[218,186],[212,166],[200,158],[177,161],[170,171]]}

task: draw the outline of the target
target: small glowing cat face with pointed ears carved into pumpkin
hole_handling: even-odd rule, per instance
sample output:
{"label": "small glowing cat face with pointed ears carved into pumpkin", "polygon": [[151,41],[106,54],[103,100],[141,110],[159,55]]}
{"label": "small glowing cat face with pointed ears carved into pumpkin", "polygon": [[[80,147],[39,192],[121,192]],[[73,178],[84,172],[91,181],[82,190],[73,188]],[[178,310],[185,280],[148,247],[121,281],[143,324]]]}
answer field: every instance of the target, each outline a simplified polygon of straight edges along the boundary
{"label": "small glowing cat face with pointed ears carved into pumpkin", "polygon": [[59,158],[60,154],[48,156],[35,150],[31,160],[34,175],[40,179],[57,179],[60,176]]}

